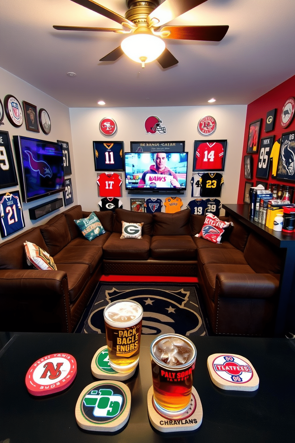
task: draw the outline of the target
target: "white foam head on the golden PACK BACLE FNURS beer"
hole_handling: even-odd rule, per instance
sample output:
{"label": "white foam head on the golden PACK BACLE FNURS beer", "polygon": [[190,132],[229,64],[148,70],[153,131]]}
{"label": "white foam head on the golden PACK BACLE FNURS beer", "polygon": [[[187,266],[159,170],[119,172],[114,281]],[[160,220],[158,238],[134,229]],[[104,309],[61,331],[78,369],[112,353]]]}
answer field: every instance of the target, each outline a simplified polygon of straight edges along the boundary
{"label": "white foam head on the golden PACK BACLE FNURS beer", "polygon": [[119,300],[108,305],[104,319],[114,327],[133,326],[142,319],[142,306],[132,300]]}

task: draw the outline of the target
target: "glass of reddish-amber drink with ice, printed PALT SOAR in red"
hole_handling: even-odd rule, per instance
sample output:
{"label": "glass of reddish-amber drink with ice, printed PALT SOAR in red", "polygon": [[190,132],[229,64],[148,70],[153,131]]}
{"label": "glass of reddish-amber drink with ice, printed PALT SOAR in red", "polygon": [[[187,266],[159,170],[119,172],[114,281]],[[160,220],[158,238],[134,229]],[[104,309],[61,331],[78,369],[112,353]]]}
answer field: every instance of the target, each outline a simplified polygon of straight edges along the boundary
{"label": "glass of reddish-amber drink with ice, printed PALT SOAR in red", "polygon": [[159,335],[150,347],[153,402],[164,416],[180,416],[189,408],[197,351],[179,334]]}

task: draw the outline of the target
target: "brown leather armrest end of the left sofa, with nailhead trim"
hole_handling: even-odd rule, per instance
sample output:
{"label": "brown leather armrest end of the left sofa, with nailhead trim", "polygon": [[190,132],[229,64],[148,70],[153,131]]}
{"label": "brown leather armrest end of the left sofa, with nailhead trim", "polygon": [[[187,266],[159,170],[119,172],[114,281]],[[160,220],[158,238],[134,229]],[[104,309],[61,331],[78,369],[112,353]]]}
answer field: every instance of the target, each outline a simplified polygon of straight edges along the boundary
{"label": "brown leather armrest end of the left sofa, with nailhead trim", "polygon": [[7,331],[70,332],[67,274],[0,270],[0,325]]}

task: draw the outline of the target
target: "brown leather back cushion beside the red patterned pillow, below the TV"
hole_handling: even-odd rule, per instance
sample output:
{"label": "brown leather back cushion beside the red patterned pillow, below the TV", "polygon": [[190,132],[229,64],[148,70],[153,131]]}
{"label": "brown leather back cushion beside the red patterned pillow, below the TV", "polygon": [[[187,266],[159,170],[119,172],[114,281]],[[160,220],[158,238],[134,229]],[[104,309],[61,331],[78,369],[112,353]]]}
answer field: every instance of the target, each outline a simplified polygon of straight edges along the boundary
{"label": "brown leather back cushion beside the red patterned pillow, below the TV", "polygon": [[154,212],[153,235],[191,235],[190,217],[189,209],[174,214]]}

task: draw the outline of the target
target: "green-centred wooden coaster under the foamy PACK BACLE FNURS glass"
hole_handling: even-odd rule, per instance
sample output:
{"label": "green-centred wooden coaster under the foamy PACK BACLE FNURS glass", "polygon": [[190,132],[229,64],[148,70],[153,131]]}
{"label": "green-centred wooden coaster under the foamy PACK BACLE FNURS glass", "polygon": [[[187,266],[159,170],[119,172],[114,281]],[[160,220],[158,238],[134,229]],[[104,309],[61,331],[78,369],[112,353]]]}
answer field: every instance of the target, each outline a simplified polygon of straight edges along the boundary
{"label": "green-centred wooden coaster under the foamy PACK BACLE FNURS glass", "polygon": [[96,378],[103,378],[104,380],[128,380],[128,378],[131,378],[134,375],[136,368],[137,366],[128,373],[116,372],[110,366],[107,346],[102,346],[94,354],[91,362],[92,375]]}

